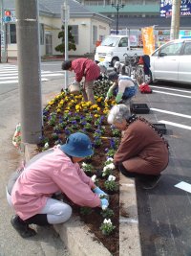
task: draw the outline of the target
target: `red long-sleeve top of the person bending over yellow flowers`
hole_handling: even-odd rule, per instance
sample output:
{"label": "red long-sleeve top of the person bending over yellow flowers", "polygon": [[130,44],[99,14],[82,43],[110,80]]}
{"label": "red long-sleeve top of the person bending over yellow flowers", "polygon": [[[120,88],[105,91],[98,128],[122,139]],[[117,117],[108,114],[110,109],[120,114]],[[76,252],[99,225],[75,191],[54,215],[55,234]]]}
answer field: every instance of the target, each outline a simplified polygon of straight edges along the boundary
{"label": "red long-sleeve top of the person bending over yellow flowers", "polygon": [[100,68],[95,61],[89,58],[76,58],[72,61],[75,81],[95,81],[100,76]]}

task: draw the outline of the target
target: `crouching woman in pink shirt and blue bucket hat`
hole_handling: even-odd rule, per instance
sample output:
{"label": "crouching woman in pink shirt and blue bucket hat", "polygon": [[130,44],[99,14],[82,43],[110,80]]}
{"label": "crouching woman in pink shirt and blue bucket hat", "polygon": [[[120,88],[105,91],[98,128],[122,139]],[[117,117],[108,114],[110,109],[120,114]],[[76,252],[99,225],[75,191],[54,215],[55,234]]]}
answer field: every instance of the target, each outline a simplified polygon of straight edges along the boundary
{"label": "crouching woman in pink shirt and blue bucket hat", "polygon": [[[11,218],[14,229],[23,238],[34,236],[30,224],[47,225],[68,221],[72,208],[52,198],[61,192],[75,204],[107,208],[108,200],[78,162],[92,155],[90,138],[81,132],[71,134],[66,144],[34,156],[15,178],[10,179],[7,198],[16,215]],[[16,181],[15,181],[16,179]]]}

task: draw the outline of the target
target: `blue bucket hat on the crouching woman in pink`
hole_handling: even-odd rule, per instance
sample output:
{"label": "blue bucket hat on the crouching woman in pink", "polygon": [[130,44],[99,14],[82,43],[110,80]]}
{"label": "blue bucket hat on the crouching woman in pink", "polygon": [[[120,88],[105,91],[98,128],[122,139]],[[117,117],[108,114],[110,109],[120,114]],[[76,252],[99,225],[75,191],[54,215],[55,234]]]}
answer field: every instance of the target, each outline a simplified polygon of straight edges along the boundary
{"label": "blue bucket hat on the crouching woman in pink", "polygon": [[71,134],[60,150],[75,157],[86,157],[94,153],[90,138],[82,132]]}

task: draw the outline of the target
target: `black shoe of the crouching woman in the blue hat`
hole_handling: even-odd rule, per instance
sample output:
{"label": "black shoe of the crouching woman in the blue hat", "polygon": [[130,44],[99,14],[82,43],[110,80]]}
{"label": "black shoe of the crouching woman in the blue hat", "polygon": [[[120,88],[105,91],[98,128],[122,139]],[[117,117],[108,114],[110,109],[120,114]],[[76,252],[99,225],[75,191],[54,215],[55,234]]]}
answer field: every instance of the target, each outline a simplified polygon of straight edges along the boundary
{"label": "black shoe of the crouching woman in the blue hat", "polygon": [[36,232],[29,227],[29,224],[22,221],[18,215],[12,216],[11,225],[22,238],[29,238],[36,235]]}

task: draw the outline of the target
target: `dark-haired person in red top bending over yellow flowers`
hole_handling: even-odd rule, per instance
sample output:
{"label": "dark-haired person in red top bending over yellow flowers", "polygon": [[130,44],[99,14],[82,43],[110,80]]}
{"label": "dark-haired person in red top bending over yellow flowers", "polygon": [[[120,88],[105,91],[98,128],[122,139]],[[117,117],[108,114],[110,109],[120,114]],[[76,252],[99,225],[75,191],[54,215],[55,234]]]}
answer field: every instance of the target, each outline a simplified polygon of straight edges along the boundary
{"label": "dark-haired person in red top bending over yellow flowers", "polygon": [[63,70],[74,71],[75,81],[80,82],[85,77],[83,85],[83,97],[85,102],[96,104],[94,97],[94,82],[100,76],[100,68],[96,62],[89,58],[76,58],[65,60],[62,63]]}

